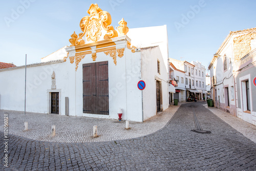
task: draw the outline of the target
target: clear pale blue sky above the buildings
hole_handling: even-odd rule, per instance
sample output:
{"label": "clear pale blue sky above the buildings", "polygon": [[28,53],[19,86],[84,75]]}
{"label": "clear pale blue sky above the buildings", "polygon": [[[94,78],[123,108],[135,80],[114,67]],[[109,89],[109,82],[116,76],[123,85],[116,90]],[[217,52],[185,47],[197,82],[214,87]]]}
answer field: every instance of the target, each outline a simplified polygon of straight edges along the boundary
{"label": "clear pale blue sky above the buildings", "polygon": [[0,61],[25,65],[27,54],[28,63],[36,63],[69,46],[70,35],[81,32],[80,19],[95,3],[111,14],[114,27],[122,17],[129,28],[167,25],[169,57],[199,60],[206,68],[229,31],[256,27],[256,1],[252,0],[4,1],[0,6]]}

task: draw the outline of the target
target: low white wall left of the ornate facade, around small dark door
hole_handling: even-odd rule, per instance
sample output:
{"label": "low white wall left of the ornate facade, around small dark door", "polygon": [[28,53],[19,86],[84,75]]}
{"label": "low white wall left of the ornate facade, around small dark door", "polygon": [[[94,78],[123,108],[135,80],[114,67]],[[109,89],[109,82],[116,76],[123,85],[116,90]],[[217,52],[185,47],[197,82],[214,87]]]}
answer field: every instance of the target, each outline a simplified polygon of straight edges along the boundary
{"label": "low white wall left of the ornate facade, around small dark door", "polygon": [[[65,62],[40,65],[27,68],[26,111],[49,113],[49,93],[53,71],[56,75],[56,88],[60,90],[60,113],[65,115],[65,97],[72,94],[71,66]],[[68,71],[68,72],[67,72]],[[25,102],[25,68],[0,71],[2,96],[1,109],[24,111]],[[72,105],[70,105],[72,106]],[[63,107],[63,108],[62,108]],[[72,108],[70,109],[72,111]]]}

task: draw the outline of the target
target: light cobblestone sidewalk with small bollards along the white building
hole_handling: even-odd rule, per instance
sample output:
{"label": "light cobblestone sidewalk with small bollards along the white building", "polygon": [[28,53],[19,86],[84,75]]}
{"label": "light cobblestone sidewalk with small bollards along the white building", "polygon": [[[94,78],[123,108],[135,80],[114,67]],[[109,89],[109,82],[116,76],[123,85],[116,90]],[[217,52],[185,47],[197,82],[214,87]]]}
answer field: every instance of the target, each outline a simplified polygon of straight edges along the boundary
{"label": "light cobblestone sidewalk with small bollards along the white building", "polygon": [[[181,103],[182,104],[182,103]],[[180,105],[180,104],[179,104]],[[102,142],[131,139],[152,134],[166,125],[179,106],[170,106],[164,112],[147,119],[143,123],[131,122],[129,130],[125,121],[87,117],[63,116],[56,114],[26,113],[0,110],[1,118],[9,117],[9,134],[38,141],[48,142]],[[28,131],[24,131],[24,122]],[[56,135],[51,136],[51,127],[56,125]],[[93,138],[93,126],[98,126],[99,137]],[[4,122],[0,122],[0,127]]]}

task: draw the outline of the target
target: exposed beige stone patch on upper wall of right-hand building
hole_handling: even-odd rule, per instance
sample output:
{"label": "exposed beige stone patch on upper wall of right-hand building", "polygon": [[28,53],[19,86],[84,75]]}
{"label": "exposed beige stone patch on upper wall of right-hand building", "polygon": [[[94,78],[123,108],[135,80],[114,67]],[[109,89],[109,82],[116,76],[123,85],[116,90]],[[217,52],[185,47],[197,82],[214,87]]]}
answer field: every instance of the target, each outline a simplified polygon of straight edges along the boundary
{"label": "exposed beige stone patch on upper wall of right-hand building", "polygon": [[233,39],[234,45],[234,60],[237,62],[242,57],[251,51],[251,40],[256,39],[256,33],[249,33],[235,37]]}

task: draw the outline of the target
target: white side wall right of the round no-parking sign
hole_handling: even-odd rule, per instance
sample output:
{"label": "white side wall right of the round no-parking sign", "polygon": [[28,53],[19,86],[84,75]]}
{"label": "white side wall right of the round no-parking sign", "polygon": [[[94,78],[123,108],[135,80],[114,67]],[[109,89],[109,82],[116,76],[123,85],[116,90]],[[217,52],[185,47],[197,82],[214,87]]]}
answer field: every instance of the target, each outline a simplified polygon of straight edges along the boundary
{"label": "white side wall right of the round no-parking sign", "polygon": [[[156,115],[156,81],[161,81],[162,86],[162,108],[168,108],[168,74],[161,56],[160,48],[148,48],[141,50],[142,58],[142,80],[146,87],[143,90],[143,114],[144,120]],[[160,61],[160,74],[157,72],[157,60]]]}

